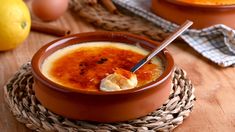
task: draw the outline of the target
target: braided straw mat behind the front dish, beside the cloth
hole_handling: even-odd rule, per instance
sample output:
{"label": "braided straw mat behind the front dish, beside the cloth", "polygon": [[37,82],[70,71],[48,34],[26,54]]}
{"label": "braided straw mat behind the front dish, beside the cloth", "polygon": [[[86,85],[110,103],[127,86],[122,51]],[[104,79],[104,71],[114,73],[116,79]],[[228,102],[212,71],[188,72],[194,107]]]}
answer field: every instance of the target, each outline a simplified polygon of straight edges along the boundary
{"label": "braided straw mat behind the front dish, beside the cloth", "polygon": [[126,31],[162,41],[169,35],[157,25],[119,7],[117,14],[110,13],[101,4],[88,4],[88,0],[70,0],[70,9],[76,16],[108,31]]}

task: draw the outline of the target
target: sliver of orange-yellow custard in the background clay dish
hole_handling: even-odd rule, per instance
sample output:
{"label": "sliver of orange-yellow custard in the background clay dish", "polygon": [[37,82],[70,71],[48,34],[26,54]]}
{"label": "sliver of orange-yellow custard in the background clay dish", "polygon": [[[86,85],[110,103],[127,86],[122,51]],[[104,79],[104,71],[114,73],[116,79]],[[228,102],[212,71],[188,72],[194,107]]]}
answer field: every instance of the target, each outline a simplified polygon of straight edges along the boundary
{"label": "sliver of orange-yellow custard in the background clay dish", "polygon": [[233,5],[235,0],[176,0],[179,2],[198,4],[198,5]]}

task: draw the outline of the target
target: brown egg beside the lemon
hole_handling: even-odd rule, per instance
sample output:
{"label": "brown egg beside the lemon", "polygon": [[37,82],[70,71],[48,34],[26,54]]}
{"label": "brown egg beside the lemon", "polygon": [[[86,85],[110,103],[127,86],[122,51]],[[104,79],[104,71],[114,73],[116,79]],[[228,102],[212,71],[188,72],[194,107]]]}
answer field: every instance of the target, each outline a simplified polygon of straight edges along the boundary
{"label": "brown egg beside the lemon", "polygon": [[69,0],[33,0],[32,11],[43,21],[59,18],[68,8]]}

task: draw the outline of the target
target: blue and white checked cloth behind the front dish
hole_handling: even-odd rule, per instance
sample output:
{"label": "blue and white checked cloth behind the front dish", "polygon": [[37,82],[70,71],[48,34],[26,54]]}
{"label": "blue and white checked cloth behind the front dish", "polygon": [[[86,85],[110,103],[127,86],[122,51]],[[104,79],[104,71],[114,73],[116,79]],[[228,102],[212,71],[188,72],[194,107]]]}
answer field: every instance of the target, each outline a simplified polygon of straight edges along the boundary
{"label": "blue and white checked cloth behind the front dish", "polygon": [[[113,0],[123,8],[162,27],[174,31],[178,25],[150,12],[151,0]],[[202,30],[187,30],[181,38],[198,53],[222,66],[235,66],[235,30],[219,24]]]}

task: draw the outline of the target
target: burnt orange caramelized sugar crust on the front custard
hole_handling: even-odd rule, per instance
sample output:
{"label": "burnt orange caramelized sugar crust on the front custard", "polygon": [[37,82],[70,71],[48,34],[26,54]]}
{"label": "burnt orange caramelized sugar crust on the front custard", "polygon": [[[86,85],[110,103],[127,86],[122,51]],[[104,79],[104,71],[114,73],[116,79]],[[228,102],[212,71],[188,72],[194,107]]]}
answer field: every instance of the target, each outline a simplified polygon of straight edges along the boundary
{"label": "burnt orange caramelized sugar crust on the front custard", "polygon": [[[61,85],[99,91],[100,81],[115,69],[130,70],[144,55],[115,47],[82,47],[56,59],[48,74]],[[136,72],[138,86],[160,76],[162,66],[149,62]],[[128,75],[127,75],[128,76]]]}

